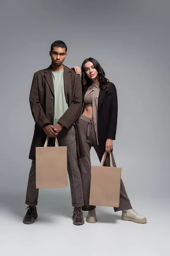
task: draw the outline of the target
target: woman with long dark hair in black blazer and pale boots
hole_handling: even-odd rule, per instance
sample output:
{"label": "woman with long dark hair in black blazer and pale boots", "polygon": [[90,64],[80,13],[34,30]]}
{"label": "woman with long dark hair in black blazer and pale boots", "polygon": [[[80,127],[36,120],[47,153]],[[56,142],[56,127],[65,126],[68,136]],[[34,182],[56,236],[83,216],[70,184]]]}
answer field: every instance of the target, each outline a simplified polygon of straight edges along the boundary
{"label": "woman with long dark hair in black blazer and pale boots", "polygon": [[[90,150],[94,147],[99,161],[103,154],[113,150],[113,140],[116,137],[117,126],[117,93],[115,85],[105,78],[105,72],[94,58],[85,59],[82,63],[82,112],[78,120],[78,129],[86,156],[79,159],[79,168],[82,177],[84,206],[88,211],[87,222],[95,223],[96,206],[89,205],[91,183]],[[113,154],[112,154],[113,157]],[[113,163],[115,164],[114,157]],[[105,166],[110,166],[109,154]],[[132,209],[125,186],[121,180],[119,208],[122,210],[122,220],[146,223],[146,218]]]}

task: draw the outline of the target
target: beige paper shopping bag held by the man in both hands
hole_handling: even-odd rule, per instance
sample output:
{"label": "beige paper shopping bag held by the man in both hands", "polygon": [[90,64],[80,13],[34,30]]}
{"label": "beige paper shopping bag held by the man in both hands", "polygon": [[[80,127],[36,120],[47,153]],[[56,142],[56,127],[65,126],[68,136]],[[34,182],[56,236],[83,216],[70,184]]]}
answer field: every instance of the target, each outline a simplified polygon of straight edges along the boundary
{"label": "beige paper shopping bag held by the man in both hands", "polygon": [[67,187],[67,147],[48,147],[48,137],[44,147],[36,148],[36,188]]}

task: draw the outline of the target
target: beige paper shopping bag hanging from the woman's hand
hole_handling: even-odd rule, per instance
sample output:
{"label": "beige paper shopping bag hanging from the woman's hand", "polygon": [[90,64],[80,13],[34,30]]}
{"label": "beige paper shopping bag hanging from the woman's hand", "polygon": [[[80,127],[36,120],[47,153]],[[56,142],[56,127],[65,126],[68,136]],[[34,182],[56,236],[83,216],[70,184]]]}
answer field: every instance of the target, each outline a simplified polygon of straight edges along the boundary
{"label": "beige paper shopping bag hanging from the woman's hand", "polygon": [[105,152],[100,166],[92,166],[89,204],[119,207],[121,168],[113,167],[113,153],[110,153],[110,167],[103,166],[106,156]]}

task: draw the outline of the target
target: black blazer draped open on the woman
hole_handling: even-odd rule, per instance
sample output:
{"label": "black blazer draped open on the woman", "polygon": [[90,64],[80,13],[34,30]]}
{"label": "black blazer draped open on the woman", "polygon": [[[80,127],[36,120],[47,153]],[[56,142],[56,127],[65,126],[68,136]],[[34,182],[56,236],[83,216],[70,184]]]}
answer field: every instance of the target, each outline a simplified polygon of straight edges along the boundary
{"label": "black blazer draped open on the woman", "polygon": [[[88,87],[82,89],[84,101],[85,93]],[[117,92],[113,83],[109,82],[109,90],[105,92],[100,89],[98,102],[98,138],[99,146],[102,154],[105,152],[105,144],[107,139],[115,140],[117,127]]]}

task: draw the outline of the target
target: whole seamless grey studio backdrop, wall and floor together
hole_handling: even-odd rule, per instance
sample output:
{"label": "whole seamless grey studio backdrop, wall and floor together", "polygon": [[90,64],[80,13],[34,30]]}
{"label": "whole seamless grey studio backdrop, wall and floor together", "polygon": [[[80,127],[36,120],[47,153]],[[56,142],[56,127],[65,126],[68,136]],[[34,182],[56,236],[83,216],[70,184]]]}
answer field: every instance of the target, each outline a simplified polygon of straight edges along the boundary
{"label": "whole seamless grey studio backdrop, wall and floor together", "polygon": [[[3,255],[169,255],[170,1],[0,1],[0,248]],[[34,72],[55,40],[65,65],[96,58],[118,93],[117,166],[140,225],[97,207],[97,223],[72,224],[70,189],[41,189],[38,220],[22,223],[34,120]],[[92,164],[99,164],[91,151]],[[84,212],[84,217],[86,217]]]}

